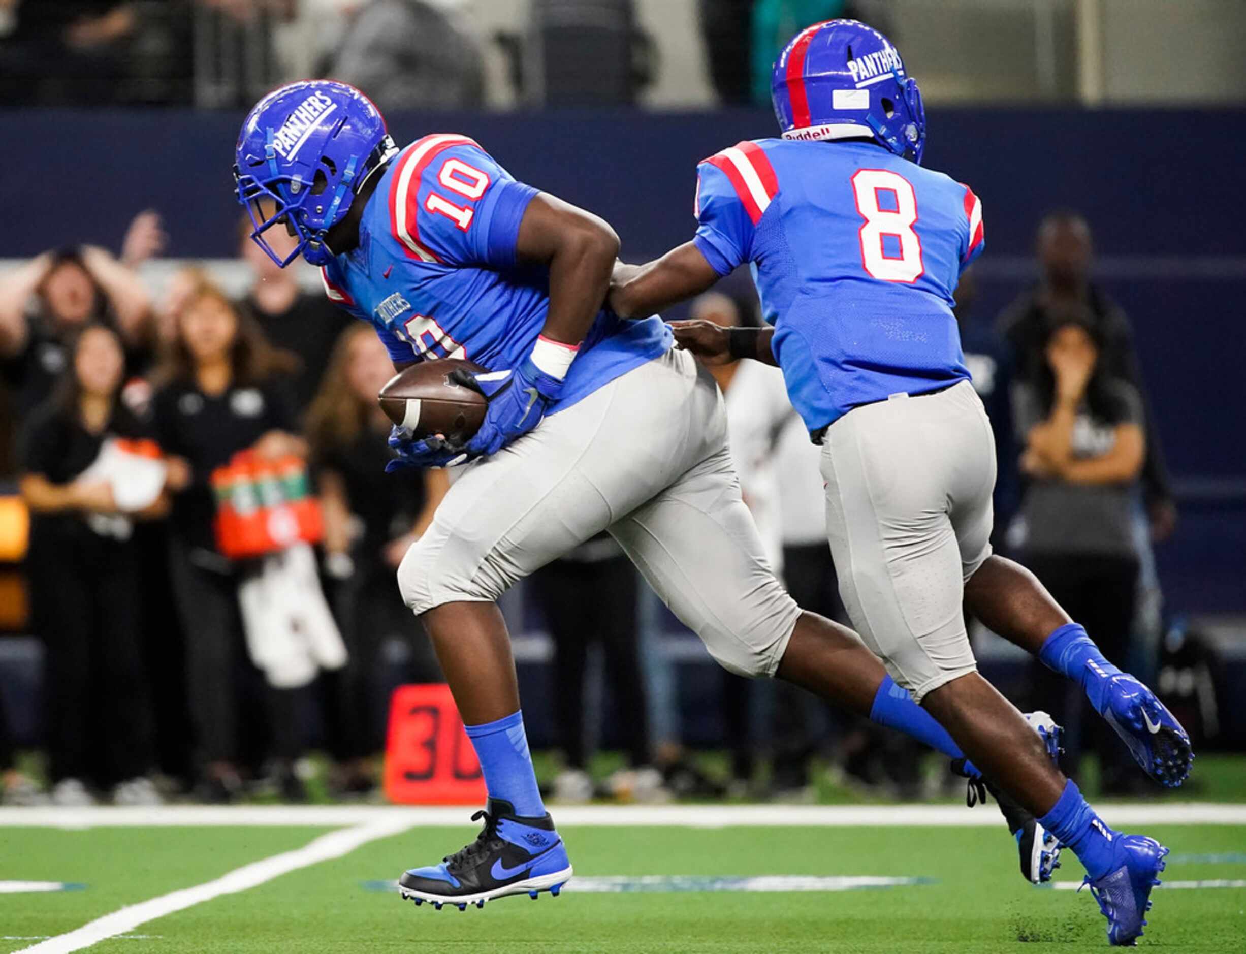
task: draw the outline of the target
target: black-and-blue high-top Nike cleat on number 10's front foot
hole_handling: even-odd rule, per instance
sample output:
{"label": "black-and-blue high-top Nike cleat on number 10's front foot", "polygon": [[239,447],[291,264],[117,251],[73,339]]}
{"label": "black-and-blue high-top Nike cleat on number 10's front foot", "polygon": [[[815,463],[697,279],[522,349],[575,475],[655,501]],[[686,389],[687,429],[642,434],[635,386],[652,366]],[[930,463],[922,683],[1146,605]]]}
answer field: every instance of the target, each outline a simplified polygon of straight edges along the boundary
{"label": "black-and-blue high-top Nike cleat on number 10's front foot", "polygon": [[412,868],[399,878],[402,900],[466,910],[468,904],[483,908],[486,900],[507,894],[558,894],[572,872],[553,818],[520,818],[510,802],[498,798],[490,798],[488,810],[471,817],[478,818],[485,828],[476,841],[440,864]]}

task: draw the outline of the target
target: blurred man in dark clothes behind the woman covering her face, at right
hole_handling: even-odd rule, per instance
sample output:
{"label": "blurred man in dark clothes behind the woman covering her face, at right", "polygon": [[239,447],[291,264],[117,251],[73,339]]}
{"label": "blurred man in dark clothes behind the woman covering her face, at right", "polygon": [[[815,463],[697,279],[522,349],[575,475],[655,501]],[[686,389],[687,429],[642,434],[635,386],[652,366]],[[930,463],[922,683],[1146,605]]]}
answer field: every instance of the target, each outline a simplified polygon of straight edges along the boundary
{"label": "blurred man in dark clothes behind the woman covering her face, at right", "polygon": [[1094,240],[1090,225],[1079,213],[1062,209],[1045,215],[1038,227],[1037,250],[1042,278],[999,315],[997,328],[1013,350],[1018,380],[1033,382],[1035,367],[1042,367],[1053,311],[1079,305],[1088,309],[1098,339],[1103,342],[1099,360],[1111,377],[1133,385],[1143,401],[1143,428],[1146,460],[1143,466],[1143,492],[1151,536],[1166,539],[1176,526],[1168,468],[1159,433],[1143,386],[1134,333],[1125,313],[1090,280],[1094,265]]}

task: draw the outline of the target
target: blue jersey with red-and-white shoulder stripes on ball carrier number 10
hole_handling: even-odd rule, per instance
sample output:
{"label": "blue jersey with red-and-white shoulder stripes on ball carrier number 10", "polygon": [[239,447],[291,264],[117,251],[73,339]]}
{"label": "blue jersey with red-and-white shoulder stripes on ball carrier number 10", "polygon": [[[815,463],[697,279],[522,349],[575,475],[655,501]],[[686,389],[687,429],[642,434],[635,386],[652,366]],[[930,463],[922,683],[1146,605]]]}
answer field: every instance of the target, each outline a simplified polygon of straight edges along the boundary
{"label": "blue jersey with red-and-white shoulder stripes on ball carrier number 10", "polygon": [[[390,163],[364,209],[359,247],[321,269],[325,293],[371,321],[396,362],[461,357],[518,367],[549,310],[546,268],[516,260],[537,191],[465,136],[425,136]],[[567,371],[569,407],[670,347],[659,319],[603,310]]]}

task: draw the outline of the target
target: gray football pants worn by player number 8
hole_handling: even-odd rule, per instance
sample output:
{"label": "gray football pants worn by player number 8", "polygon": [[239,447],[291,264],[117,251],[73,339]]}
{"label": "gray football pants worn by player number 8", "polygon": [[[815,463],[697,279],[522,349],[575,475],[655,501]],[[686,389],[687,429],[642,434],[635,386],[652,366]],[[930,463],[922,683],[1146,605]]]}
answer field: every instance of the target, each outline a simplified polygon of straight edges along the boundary
{"label": "gray football pants worn by player number 8", "polygon": [[976,671],[961,604],[991,555],[996,450],[973,386],[849,411],[821,470],[840,595],[866,645],[918,702]]}

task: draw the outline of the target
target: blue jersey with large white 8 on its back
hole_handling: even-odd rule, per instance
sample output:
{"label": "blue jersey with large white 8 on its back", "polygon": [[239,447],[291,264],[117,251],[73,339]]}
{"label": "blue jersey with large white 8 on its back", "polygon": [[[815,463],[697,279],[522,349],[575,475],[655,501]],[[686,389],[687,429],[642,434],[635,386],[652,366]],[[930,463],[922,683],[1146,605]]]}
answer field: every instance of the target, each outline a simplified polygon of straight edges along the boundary
{"label": "blue jersey with large white 8 on its back", "polygon": [[694,242],[719,274],[751,264],[809,430],[969,377],[952,315],[983,244],[967,186],[865,142],[741,142],[698,172]]}

